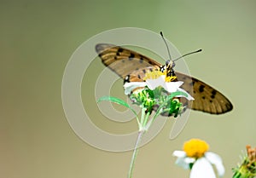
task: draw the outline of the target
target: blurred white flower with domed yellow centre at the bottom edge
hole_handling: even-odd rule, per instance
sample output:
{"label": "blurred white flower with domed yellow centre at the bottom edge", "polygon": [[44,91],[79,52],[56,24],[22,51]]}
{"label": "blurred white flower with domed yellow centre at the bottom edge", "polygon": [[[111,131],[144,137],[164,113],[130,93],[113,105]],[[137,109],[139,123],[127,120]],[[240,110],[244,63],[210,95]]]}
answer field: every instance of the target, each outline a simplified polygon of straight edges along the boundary
{"label": "blurred white flower with domed yellow centre at the bottom edge", "polygon": [[189,178],[216,178],[212,165],[222,177],[225,172],[222,159],[214,152],[207,152],[208,149],[206,141],[191,139],[184,143],[183,151],[174,151],[172,155],[177,157],[177,165],[191,169]]}

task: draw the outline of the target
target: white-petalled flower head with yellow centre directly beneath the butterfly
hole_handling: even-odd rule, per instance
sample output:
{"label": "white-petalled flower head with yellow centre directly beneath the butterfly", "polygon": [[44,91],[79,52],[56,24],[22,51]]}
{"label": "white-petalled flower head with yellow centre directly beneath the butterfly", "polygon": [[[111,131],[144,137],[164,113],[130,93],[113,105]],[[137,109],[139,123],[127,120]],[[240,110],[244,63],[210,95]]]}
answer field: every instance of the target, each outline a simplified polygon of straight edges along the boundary
{"label": "white-petalled flower head with yellow centre directly beneath the butterfly", "polygon": [[[172,78],[174,77],[166,78],[166,75],[163,75],[163,73],[159,75],[159,73],[157,72],[148,73],[148,76],[145,78],[145,82],[125,83],[124,85],[125,95],[131,94],[131,91],[133,89],[137,89],[139,87],[148,86],[148,89],[154,90],[155,88],[161,86],[164,89],[166,89],[166,91],[168,91],[169,93],[181,91],[188,95],[186,97],[188,100],[194,100],[194,98],[191,95],[189,95],[188,92],[186,92],[184,89],[179,88],[183,84],[182,81],[172,82]],[[185,96],[177,95],[177,97],[185,97]]]}

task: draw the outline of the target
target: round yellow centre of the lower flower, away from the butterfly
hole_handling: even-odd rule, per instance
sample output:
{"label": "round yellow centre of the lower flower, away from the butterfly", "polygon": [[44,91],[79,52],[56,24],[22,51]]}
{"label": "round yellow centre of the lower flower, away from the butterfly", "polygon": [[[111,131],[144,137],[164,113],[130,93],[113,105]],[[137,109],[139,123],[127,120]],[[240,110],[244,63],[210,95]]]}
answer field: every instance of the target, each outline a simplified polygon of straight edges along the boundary
{"label": "round yellow centre of the lower flower, away from the butterfly", "polygon": [[200,139],[191,139],[183,145],[183,151],[191,158],[201,158],[208,149],[209,145],[207,142]]}

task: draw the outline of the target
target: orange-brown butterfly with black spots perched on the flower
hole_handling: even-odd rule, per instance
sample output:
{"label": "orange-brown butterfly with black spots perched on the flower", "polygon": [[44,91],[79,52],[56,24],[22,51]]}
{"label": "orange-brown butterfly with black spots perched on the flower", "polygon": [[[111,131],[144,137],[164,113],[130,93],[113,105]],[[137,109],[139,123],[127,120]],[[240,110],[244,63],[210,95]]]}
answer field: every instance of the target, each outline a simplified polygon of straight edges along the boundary
{"label": "orange-brown butterfly with black spots perched on the flower", "polygon": [[169,75],[175,75],[177,81],[183,81],[181,88],[195,99],[192,101],[181,98],[183,106],[211,114],[222,114],[233,109],[230,100],[207,83],[181,72],[174,72],[172,60],[167,60],[165,65],[161,65],[145,55],[108,43],[96,44],[96,52],[102,63],[123,78],[124,83],[143,82],[148,71],[169,68]]}

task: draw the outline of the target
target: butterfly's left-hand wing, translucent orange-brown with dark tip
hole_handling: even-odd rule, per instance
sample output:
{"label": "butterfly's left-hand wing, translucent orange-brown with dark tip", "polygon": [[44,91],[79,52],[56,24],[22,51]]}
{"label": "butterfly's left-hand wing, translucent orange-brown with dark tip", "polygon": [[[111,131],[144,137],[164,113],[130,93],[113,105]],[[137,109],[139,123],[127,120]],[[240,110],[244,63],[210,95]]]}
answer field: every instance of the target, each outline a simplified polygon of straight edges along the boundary
{"label": "butterfly's left-hand wing, translucent orange-brown with dark tip", "polygon": [[113,44],[97,44],[96,52],[101,57],[102,63],[123,78],[125,82],[143,81],[148,70],[155,70],[160,66],[160,63],[155,60]]}

